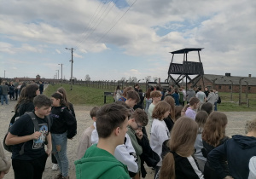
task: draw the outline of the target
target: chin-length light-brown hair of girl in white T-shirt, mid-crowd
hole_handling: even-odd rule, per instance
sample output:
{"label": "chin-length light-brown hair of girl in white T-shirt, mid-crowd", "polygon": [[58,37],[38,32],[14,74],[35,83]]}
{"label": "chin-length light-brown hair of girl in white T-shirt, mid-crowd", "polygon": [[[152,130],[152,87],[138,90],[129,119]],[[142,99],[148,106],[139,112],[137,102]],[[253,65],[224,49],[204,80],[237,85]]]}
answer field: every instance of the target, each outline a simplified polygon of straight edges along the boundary
{"label": "chin-length light-brown hair of girl in white T-shirt, mid-crowd", "polygon": [[161,120],[164,117],[164,114],[170,111],[170,109],[171,106],[166,101],[160,101],[153,109],[152,118]]}

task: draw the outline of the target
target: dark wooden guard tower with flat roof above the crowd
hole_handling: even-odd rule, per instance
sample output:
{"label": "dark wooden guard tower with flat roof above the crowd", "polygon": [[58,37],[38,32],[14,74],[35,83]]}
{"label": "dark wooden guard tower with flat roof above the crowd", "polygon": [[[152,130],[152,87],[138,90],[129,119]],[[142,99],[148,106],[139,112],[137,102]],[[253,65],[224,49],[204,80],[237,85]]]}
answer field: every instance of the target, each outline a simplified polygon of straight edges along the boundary
{"label": "dark wooden guard tower with flat roof above the crowd", "polygon": [[[183,78],[186,78],[186,90],[188,89],[187,88],[188,79],[189,79],[189,83],[192,82],[193,86],[195,86],[195,84],[197,84],[197,82],[201,78],[203,78],[203,75],[204,75],[204,69],[201,63],[201,58],[199,53],[201,49],[204,49],[204,48],[186,48],[186,49],[179,49],[177,51],[170,52],[172,53],[172,61],[175,54],[183,54],[183,63],[182,64],[173,63],[171,61],[171,64],[168,70],[168,78],[166,79],[167,82],[169,82],[171,79],[173,84],[180,87],[179,83],[183,80]],[[191,51],[197,51],[199,62],[188,61],[188,53]],[[179,75],[179,77],[177,79],[174,79],[172,78],[173,74]],[[193,81],[189,77],[189,75],[198,75],[199,78],[196,78],[196,81]]]}

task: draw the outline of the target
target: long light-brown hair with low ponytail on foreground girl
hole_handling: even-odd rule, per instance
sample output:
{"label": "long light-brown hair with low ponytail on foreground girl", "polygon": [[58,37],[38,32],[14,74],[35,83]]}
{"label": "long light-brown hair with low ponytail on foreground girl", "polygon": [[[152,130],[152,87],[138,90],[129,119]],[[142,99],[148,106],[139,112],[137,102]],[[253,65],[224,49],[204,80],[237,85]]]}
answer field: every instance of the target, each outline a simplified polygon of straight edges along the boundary
{"label": "long light-brown hair with low ponytail on foreground girl", "polygon": [[160,169],[160,179],[175,179],[175,160],[173,153],[182,157],[189,157],[194,153],[194,144],[198,125],[191,118],[178,118],[173,125],[171,139],[168,146],[172,153],[167,153]]}

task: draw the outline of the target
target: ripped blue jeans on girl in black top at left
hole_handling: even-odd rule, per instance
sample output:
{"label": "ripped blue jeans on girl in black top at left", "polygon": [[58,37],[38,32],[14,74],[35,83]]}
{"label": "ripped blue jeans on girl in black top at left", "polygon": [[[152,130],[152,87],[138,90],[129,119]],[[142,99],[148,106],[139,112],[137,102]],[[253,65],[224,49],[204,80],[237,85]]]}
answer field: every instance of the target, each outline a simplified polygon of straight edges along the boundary
{"label": "ripped blue jeans on girl in black top at left", "polygon": [[63,134],[51,134],[52,153],[58,161],[61,174],[68,176],[68,159],[67,159],[67,132]]}

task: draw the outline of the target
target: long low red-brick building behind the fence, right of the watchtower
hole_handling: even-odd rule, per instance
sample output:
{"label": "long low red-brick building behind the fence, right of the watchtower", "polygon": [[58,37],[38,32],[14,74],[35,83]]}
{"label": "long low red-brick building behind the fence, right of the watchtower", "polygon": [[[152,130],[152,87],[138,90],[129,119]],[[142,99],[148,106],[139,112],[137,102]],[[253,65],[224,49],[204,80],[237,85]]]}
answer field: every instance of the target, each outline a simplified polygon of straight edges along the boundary
{"label": "long low red-brick building behind the fence, right of the watchtower", "polygon": [[[196,81],[196,78],[198,77],[193,78],[192,81]],[[245,93],[246,90],[248,93],[256,93],[256,78],[251,77],[250,74],[248,77],[231,76],[230,73],[225,75],[204,74],[195,86],[215,88],[219,92],[230,92],[232,88],[234,93],[238,93],[240,80],[242,93]]]}

